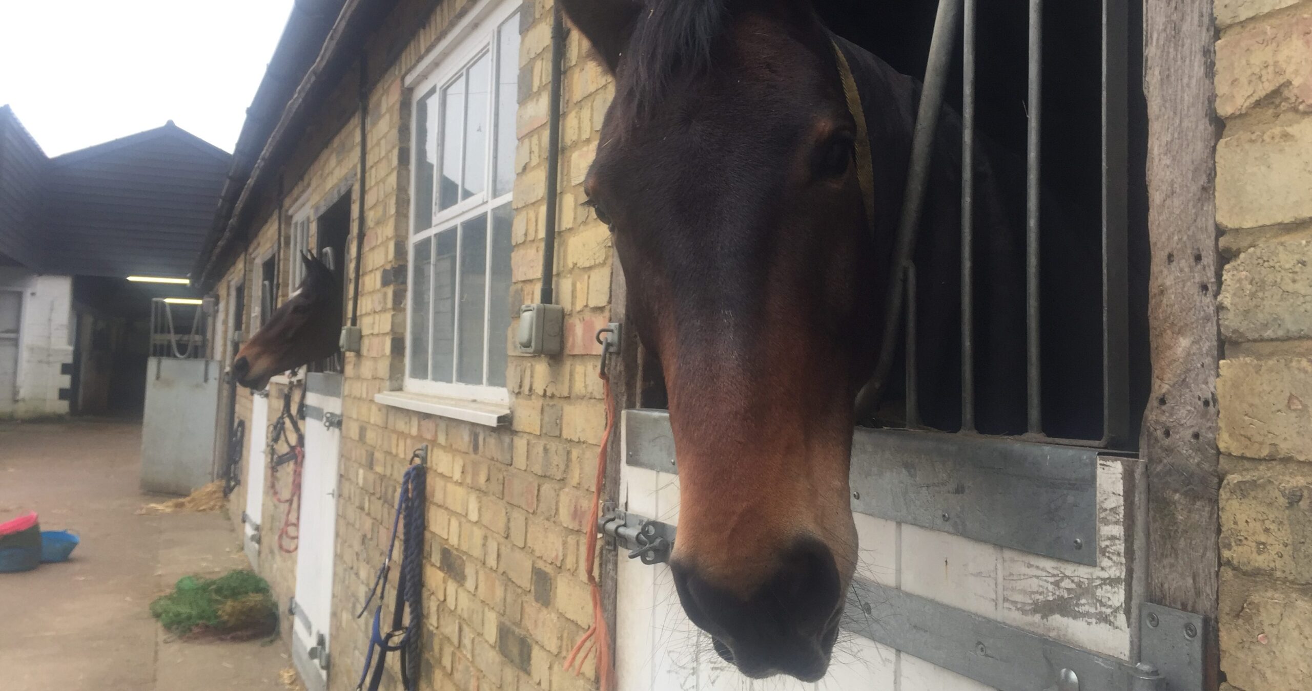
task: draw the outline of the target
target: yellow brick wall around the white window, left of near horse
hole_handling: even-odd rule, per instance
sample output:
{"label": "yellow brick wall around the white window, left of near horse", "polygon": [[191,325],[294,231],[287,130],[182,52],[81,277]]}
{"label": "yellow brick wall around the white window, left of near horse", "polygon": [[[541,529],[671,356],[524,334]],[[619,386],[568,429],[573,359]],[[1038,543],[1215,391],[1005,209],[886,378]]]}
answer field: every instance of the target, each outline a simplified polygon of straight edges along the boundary
{"label": "yellow brick wall around the white window, left of near horse", "polygon": [[[571,690],[596,684],[590,660],[583,678],[567,673],[563,660],[592,620],[583,564],[584,524],[596,443],[605,424],[597,379],[600,349],[593,334],[607,321],[611,248],[605,226],[581,205],[581,177],[611,87],[605,71],[581,52],[577,35],[571,37],[567,50],[555,269],[556,302],[567,315],[565,354],[512,353],[506,376],[512,424],[506,429],[374,403],[375,393],[398,388],[404,366],[412,94],[401,80],[471,4],[445,0],[434,10],[432,3],[403,1],[367,47],[374,87],[369,94],[359,281],[363,342],[361,354],[348,355],[345,363],[331,624],[333,690],[353,688],[363,663],[370,622],[354,615],[386,549],[400,476],[411,451],[424,443],[430,444],[432,456],[421,687]],[[514,308],[537,302],[541,287],[551,51],[551,5],[530,0],[522,12],[527,18],[521,22],[521,80],[529,85],[521,87],[517,117]],[[356,85],[357,75],[344,77],[285,165],[287,201],[308,190],[318,202],[323,190],[335,188],[358,165]],[[358,203],[354,189],[350,194],[353,205]],[[354,218],[353,206],[353,226]],[[252,254],[274,243],[273,208],[264,211],[257,226]],[[353,252],[354,228],[348,254]],[[348,267],[353,261],[348,257]],[[232,266],[228,275],[240,271]],[[279,271],[286,275],[286,262]],[[279,391],[270,396],[270,416],[277,414],[279,396]],[[237,409],[249,420],[244,391]],[[243,497],[243,490],[234,494],[237,517]],[[281,514],[270,502],[266,498],[261,570],[285,603],[295,560],[277,552],[274,534]],[[396,687],[391,673],[388,683],[384,688]]]}

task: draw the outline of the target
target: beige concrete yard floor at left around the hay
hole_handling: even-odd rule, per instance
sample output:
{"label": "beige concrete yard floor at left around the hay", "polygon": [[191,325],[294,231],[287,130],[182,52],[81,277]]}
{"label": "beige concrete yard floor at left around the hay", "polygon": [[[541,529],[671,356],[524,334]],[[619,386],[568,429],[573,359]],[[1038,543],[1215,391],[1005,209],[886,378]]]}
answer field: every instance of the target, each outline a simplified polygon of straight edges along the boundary
{"label": "beige concrete yard floor at left around the hay", "polygon": [[172,639],[148,606],[186,574],[248,568],[222,513],[136,515],[140,425],[0,424],[0,522],[71,530],[70,561],[0,573],[5,691],[287,691],[276,641]]}

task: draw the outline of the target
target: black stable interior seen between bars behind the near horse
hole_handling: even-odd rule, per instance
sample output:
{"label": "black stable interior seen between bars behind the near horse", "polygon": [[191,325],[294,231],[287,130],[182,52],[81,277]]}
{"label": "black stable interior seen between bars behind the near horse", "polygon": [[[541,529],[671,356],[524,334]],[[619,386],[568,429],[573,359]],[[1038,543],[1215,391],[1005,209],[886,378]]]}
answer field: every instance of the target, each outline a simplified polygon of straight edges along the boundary
{"label": "black stable interior seen between bars behind the near horse", "polygon": [[[1117,306],[1128,320],[1128,395],[1111,401],[1128,417],[1128,429],[1106,439],[1113,448],[1138,447],[1140,417],[1148,397],[1147,337],[1147,193],[1144,182],[1147,115],[1141,93],[1141,5],[1126,3],[1126,265],[1128,300]],[[844,38],[870,50],[899,72],[924,79],[937,0],[824,0],[824,21]],[[1054,438],[1103,439],[1102,353],[1102,3],[1046,3],[1043,8],[1043,117],[1040,185],[1040,351],[1043,433]],[[976,143],[1023,161],[1027,98],[1027,0],[980,3],[976,14]],[[945,106],[962,109],[962,42],[958,34]],[[1006,194],[1025,203],[1025,169],[1014,169]],[[976,193],[977,195],[979,193]],[[1023,216],[1015,232],[1023,236]],[[981,257],[987,239],[975,240],[976,430],[1022,434],[1025,418],[1025,304],[997,304],[981,291],[991,281]],[[921,277],[922,278],[922,277]],[[1015,277],[1010,277],[1015,279]],[[997,275],[992,279],[1002,279]],[[921,300],[924,302],[924,300]],[[955,300],[950,309],[959,309]],[[920,304],[917,313],[924,313]],[[941,307],[939,307],[941,308]],[[933,317],[933,315],[926,315]],[[953,317],[959,321],[959,312]],[[993,337],[985,337],[991,321]],[[1018,325],[1000,329],[997,324]],[[918,319],[924,323],[924,319]],[[962,429],[960,341],[946,333],[917,342],[918,426]],[[901,336],[899,340],[901,341]],[[890,376],[875,426],[905,426],[903,346]],[[997,374],[1005,372],[1005,374]],[[1005,376],[1002,380],[1000,378]],[[643,362],[642,405],[665,405],[659,365]],[[991,405],[998,397],[1013,405]],[[1019,406],[1019,408],[1017,408]]]}

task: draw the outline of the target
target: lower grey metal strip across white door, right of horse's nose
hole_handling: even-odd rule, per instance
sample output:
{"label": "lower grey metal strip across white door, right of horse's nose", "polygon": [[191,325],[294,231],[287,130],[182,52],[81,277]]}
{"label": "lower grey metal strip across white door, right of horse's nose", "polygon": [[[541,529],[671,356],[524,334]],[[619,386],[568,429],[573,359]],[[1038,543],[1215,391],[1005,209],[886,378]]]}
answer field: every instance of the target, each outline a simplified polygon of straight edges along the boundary
{"label": "lower grey metal strip across white door, right of horse's nose", "polygon": [[1072,673],[1081,691],[1136,688],[1120,660],[870,581],[851,587],[844,629],[998,691],[1064,688]]}

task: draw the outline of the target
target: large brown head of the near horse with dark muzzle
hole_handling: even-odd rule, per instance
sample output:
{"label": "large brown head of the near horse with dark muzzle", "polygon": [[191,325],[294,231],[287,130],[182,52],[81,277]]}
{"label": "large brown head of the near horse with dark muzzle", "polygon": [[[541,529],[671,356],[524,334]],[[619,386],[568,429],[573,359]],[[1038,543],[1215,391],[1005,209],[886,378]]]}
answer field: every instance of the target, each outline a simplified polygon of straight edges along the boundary
{"label": "large brown head of the near horse with dark muzzle", "polygon": [[562,4],[617,83],[585,189],[664,371],[680,599],[744,674],[817,679],[886,281],[830,34],[795,0]]}

